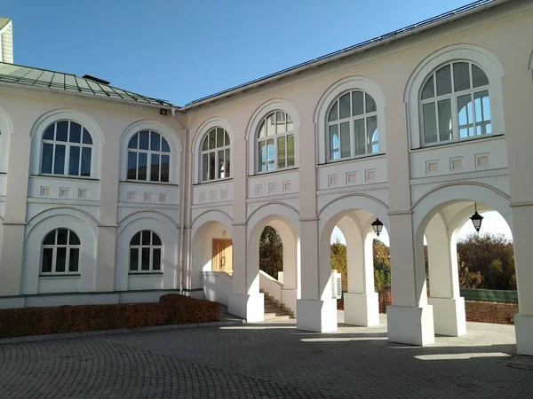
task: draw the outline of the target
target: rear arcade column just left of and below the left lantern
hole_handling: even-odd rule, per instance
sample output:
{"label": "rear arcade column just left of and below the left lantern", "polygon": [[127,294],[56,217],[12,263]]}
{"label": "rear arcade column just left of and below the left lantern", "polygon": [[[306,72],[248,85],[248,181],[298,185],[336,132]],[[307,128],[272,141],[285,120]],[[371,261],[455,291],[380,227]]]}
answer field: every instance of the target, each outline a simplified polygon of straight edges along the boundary
{"label": "rear arcade column just left of and below the left lantern", "polygon": [[346,325],[379,325],[378,293],[374,291],[374,232],[362,231],[356,219],[345,216],[338,223],[346,239],[348,292],[344,294]]}

